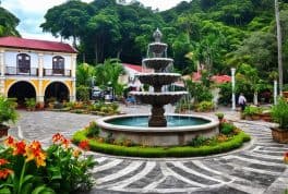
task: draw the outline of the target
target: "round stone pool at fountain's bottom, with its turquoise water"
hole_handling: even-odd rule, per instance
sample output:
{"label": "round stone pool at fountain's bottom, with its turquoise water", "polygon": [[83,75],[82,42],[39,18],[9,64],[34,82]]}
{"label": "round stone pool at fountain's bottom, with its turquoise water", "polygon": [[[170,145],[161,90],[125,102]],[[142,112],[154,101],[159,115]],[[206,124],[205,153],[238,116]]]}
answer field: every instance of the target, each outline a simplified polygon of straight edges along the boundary
{"label": "round stone pool at fountain's bottom, with its turquoise water", "polygon": [[219,121],[203,116],[169,114],[167,128],[148,128],[145,121],[148,118],[147,114],[127,114],[98,119],[99,136],[111,134],[116,141],[130,140],[145,146],[177,146],[188,144],[195,136],[213,137],[219,133]]}

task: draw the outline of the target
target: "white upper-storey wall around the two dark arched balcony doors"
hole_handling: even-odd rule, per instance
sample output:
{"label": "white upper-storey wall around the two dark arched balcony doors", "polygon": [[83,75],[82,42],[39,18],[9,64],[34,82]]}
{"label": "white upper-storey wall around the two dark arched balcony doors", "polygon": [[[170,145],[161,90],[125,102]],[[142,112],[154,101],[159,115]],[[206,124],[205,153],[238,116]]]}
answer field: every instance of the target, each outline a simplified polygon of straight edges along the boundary
{"label": "white upper-storey wall around the two dark arched balcony doors", "polygon": [[[5,51],[4,52],[4,64],[5,66],[16,66],[17,65],[17,54],[26,53],[31,57],[31,68],[38,68],[38,53],[36,52],[17,52],[17,51]],[[71,56],[70,54],[44,54],[44,69],[52,69],[52,58],[56,56],[61,56],[64,58],[64,64],[67,70],[71,70]]]}

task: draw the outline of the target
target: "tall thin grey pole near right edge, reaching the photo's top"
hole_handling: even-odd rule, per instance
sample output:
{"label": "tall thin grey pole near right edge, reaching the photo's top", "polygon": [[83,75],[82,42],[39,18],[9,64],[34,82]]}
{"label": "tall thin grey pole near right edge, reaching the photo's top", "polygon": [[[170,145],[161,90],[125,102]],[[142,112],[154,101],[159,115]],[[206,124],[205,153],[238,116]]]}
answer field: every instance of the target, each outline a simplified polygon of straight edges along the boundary
{"label": "tall thin grey pole near right edge, reaching the photo's top", "polygon": [[276,27],[277,27],[279,95],[283,96],[283,49],[281,49],[281,26],[280,26],[278,0],[275,0],[275,19],[276,19]]}

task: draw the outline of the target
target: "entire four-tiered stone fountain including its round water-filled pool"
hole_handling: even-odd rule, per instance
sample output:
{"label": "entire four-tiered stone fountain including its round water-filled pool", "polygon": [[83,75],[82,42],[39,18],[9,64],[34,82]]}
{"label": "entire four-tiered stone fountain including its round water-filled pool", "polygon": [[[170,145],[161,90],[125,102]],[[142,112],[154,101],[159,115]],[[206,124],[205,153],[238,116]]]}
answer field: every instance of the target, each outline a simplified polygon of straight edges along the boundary
{"label": "entire four-tiered stone fountain including its round water-filled pool", "polygon": [[154,92],[131,92],[139,101],[152,106],[152,113],[99,119],[100,136],[111,135],[116,140],[125,138],[148,146],[184,145],[197,135],[215,136],[218,134],[217,120],[191,114],[165,114],[165,105],[177,102],[188,93],[163,92],[164,86],[175,83],[181,74],[167,73],[173,60],[167,58],[168,46],[160,43],[163,35],[158,28],[153,36],[155,43],[148,45],[147,59],[142,62],[154,72],[141,73],[137,76],[141,83],[151,85]]}

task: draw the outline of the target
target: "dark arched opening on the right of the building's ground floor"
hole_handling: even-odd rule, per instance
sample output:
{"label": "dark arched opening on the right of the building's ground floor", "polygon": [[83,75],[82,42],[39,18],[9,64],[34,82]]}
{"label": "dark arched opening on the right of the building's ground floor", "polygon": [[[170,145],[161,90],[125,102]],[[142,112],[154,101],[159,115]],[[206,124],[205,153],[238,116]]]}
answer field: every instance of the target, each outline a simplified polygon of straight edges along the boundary
{"label": "dark arched opening on the right of the building's ground floor", "polygon": [[57,101],[69,101],[69,88],[61,82],[53,82],[46,87],[45,101],[53,98]]}

